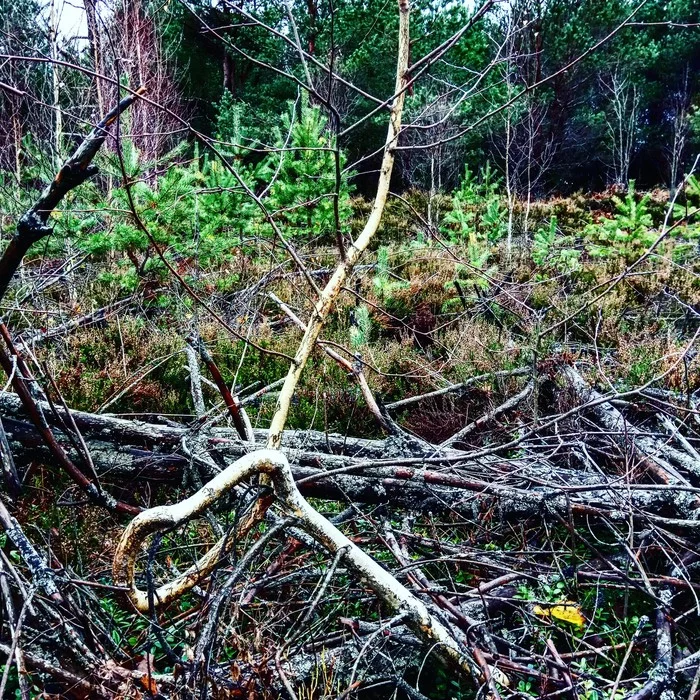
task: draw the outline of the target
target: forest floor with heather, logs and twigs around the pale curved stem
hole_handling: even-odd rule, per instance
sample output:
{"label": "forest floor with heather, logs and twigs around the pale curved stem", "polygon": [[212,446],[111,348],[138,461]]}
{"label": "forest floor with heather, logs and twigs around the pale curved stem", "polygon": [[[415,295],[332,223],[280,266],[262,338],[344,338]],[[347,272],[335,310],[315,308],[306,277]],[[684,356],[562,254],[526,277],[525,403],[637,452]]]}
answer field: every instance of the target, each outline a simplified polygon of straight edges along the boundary
{"label": "forest floor with heather, logs and twigs around the pale curved stem", "polygon": [[[286,450],[300,490],[456,630],[472,678],[426,665],[401,615],[302,535],[278,533],[244,576],[233,575],[235,554],[214,574],[230,580],[205,649],[213,697],[277,696],[283,685],[299,698],[471,698],[480,688],[492,698],[694,697],[700,263],[693,226],[667,231],[663,193],[641,213],[622,205],[609,193],[535,202],[530,233],[509,250],[505,238],[426,226],[393,202],[382,245],[361,260],[295,397]],[[324,283],[333,248],[299,249]],[[243,339],[175,279],[147,275],[126,293],[109,256],[13,299],[8,325],[24,328],[32,367],[51,377],[49,423],[79,452],[61,402],[83,412],[92,466],[116,498],[176,502],[243,449],[207,367],[200,375],[188,357],[193,328],[264,442],[275,382],[301,337],[285,307],[302,322],[309,315],[304,279],[277,252],[241,241],[219,269],[178,262]],[[37,258],[22,282],[36,289],[50,276],[50,261]],[[39,330],[36,318],[46,319]],[[22,481],[14,515],[90,617],[71,618],[89,647],[82,658],[63,640],[72,656],[55,663],[89,678],[86,664],[94,671],[109,658],[105,687],[124,697],[185,697],[172,689],[201,661],[195,640],[214,583],[135,613],[110,588],[125,519],[87,504],[57,472],[12,395],[0,404]],[[209,463],[192,457],[200,438]],[[196,562],[238,512],[219,508],[154,538],[141,580]],[[7,539],[3,550],[24,571]],[[35,631],[38,648],[62,639]],[[25,664],[37,693],[59,692],[29,648]],[[18,687],[17,667],[8,673]],[[54,680],[75,697],[94,691]]]}

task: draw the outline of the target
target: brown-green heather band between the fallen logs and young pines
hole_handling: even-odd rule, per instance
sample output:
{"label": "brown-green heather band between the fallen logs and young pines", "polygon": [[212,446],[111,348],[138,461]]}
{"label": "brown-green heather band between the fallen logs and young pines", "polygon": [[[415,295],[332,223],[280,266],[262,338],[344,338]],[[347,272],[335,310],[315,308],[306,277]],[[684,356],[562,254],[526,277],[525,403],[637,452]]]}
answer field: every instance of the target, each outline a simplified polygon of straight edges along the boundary
{"label": "brown-green heather band between the fallen logs and young pines", "polygon": [[[481,287],[455,261],[460,254],[468,255],[467,248],[382,245],[365,256],[367,267],[349,281],[328,319],[323,339],[362,365],[380,401],[390,403],[478,374],[531,366],[562,353],[605,373],[621,389],[659,375],[664,375],[662,385],[668,388],[696,388],[696,361],[677,362],[695,327],[687,309],[700,302],[694,263],[683,267],[656,256],[611,286],[625,269],[623,258],[588,259],[584,254],[575,269],[566,264],[565,272],[545,272],[539,268],[550,258],[539,258],[538,266],[526,250],[516,249],[510,271],[504,272],[501,242],[491,253],[497,272]],[[332,251],[320,250],[317,257],[327,263]],[[561,261],[556,257],[552,264]],[[248,280],[266,267],[255,258],[245,266]],[[210,276],[206,284],[214,282]],[[95,285],[92,281],[89,286]],[[605,294],[599,293],[607,287]],[[274,280],[268,289],[302,317],[308,314],[308,292],[299,276]],[[226,312],[235,307],[235,297],[230,302],[225,295],[211,300],[217,313],[252,344],[232,335],[170,282],[159,296],[138,300],[145,314],[127,310],[118,318],[73,330],[40,346],[38,356],[67,403],[90,411],[191,415],[183,349],[193,326],[229,385],[250,393],[283,378],[301,339],[283,312],[263,298],[257,313],[231,317]],[[65,309],[64,299],[54,303]],[[83,302],[79,312],[86,306]],[[203,374],[207,376],[205,369]],[[414,406],[400,417],[418,432],[423,426],[424,437],[440,439],[431,431],[442,427],[449,432],[465,412],[506,397],[518,381],[479,383],[469,392]],[[212,404],[220,400],[207,386],[205,395]],[[274,396],[273,392],[250,407],[257,426],[268,424]],[[376,433],[357,384],[321,352],[312,355],[302,376],[290,427]]]}

